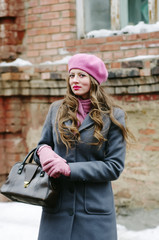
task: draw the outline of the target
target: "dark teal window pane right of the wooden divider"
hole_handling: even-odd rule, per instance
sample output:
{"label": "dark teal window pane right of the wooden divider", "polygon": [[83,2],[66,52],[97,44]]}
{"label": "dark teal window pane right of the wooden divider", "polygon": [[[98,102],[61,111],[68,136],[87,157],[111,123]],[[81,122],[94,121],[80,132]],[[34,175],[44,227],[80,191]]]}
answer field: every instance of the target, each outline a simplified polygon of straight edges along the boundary
{"label": "dark teal window pane right of the wooden divider", "polygon": [[128,21],[129,24],[149,22],[148,0],[128,0]]}

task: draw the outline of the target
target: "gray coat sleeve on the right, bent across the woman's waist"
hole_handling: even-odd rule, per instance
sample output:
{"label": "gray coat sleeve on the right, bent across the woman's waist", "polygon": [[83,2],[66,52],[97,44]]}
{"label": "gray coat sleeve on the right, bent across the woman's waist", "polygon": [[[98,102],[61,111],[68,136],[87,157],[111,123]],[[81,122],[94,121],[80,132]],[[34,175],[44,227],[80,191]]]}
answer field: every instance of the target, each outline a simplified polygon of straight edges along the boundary
{"label": "gray coat sleeve on the right, bent across the woman's waist", "polygon": [[[125,125],[125,115],[119,110],[115,118]],[[69,163],[72,181],[103,182],[116,180],[124,169],[126,143],[120,128],[111,122],[104,161]],[[91,159],[90,159],[91,160]]]}

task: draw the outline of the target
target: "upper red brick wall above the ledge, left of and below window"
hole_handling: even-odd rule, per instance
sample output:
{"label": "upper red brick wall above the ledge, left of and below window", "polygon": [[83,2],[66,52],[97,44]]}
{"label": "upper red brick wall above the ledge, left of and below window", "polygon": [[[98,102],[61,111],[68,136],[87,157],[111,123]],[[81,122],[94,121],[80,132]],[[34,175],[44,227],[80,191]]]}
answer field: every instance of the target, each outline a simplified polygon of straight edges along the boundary
{"label": "upper red brick wall above the ledge, left of and below window", "polygon": [[118,59],[159,54],[159,32],[77,39],[75,0],[0,1],[1,59],[32,63],[90,52],[119,68]]}

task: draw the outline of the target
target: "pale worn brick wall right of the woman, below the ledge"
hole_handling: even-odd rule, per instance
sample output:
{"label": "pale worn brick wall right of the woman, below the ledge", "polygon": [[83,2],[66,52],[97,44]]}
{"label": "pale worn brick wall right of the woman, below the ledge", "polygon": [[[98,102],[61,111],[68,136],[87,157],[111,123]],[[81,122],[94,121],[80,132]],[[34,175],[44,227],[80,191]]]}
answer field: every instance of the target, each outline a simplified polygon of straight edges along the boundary
{"label": "pale worn brick wall right of the woman, below the ledge", "polygon": [[158,208],[159,95],[134,97],[122,105],[137,142],[127,150],[125,170],[113,183],[115,201],[120,207]]}

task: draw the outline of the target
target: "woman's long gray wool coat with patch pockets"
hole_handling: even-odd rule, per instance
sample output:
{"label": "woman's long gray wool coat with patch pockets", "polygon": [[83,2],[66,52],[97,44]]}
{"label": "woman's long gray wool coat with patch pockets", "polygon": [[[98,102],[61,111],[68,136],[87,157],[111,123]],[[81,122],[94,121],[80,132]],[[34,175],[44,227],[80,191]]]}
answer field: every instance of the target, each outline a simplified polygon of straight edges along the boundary
{"label": "woman's long gray wool coat with patch pockets", "polygon": [[[121,130],[108,115],[103,116],[102,133],[107,139],[99,148],[94,142],[94,123],[86,116],[79,127],[81,142],[66,153],[57,141],[56,113],[61,101],[54,102],[44,123],[39,148],[48,144],[67,160],[71,176],[61,176],[61,193],[55,208],[43,208],[39,240],[116,240],[116,217],[111,181],[124,168],[125,142]],[[115,118],[124,125],[124,112],[114,109]],[[65,123],[70,124],[70,121]],[[35,154],[36,155],[36,154]],[[36,162],[39,162],[37,155]]]}

